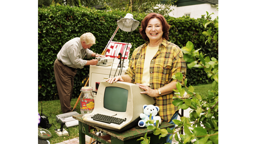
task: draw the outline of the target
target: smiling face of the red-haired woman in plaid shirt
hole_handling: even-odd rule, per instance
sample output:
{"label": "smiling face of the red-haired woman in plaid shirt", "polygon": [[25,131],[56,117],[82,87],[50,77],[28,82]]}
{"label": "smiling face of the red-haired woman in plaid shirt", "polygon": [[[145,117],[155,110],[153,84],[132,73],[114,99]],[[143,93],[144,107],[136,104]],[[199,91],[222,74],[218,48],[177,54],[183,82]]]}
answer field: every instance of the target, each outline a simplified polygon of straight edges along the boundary
{"label": "smiling face of the red-haired woman in plaid shirt", "polygon": [[146,34],[149,38],[149,41],[159,41],[163,39],[163,27],[161,21],[158,18],[152,18],[148,21]]}

